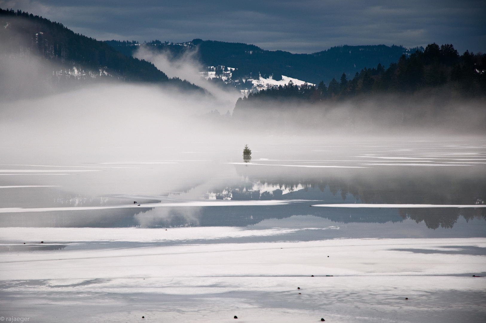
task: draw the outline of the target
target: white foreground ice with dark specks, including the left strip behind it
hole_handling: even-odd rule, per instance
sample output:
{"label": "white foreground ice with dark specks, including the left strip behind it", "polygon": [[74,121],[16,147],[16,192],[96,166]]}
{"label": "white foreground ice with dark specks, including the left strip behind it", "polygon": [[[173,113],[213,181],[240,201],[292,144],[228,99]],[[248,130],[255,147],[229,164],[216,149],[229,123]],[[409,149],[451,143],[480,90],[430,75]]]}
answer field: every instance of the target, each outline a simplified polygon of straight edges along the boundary
{"label": "white foreground ice with dark specks, including the left strip behind it", "polygon": [[[43,230],[9,228],[1,234],[28,238]],[[150,239],[150,230],[191,238],[205,236],[208,228],[44,233],[82,243],[114,239],[115,232],[142,241]],[[209,230],[214,230],[206,234],[209,239],[224,230],[253,231]],[[134,322],[142,315],[155,322],[236,322],[234,315],[248,323],[482,322],[486,279],[472,274],[486,271],[486,256],[439,252],[451,246],[486,248],[486,238],[1,252],[1,306],[8,308],[2,315],[25,314],[35,322]],[[422,249],[432,253],[413,252]]]}

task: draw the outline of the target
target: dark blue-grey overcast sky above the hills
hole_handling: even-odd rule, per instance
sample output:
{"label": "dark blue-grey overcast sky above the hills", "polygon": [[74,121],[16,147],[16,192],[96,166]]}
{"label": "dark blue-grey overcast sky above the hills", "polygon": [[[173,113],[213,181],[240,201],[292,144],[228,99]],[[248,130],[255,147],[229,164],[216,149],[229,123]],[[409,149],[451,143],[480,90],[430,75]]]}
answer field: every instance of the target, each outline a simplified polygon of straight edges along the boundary
{"label": "dark blue-grey overcast sky above the hills", "polygon": [[452,43],[486,52],[485,0],[0,0],[98,40],[244,42],[313,53],[337,45]]}

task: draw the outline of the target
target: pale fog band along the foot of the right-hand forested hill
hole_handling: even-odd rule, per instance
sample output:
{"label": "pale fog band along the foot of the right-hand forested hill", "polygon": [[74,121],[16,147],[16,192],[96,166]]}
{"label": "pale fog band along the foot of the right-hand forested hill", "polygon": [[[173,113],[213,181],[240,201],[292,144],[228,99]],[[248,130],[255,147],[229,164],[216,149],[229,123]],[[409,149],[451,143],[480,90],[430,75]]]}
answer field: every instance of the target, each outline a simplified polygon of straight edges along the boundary
{"label": "pale fog band along the foot of the right-hand forested hill", "polygon": [[233,120],[249,127],[326,135],[484,135],[483,98],[443,96],[440,92],[383,94],[350,100],[306,102],[292,99],[243,100]]}

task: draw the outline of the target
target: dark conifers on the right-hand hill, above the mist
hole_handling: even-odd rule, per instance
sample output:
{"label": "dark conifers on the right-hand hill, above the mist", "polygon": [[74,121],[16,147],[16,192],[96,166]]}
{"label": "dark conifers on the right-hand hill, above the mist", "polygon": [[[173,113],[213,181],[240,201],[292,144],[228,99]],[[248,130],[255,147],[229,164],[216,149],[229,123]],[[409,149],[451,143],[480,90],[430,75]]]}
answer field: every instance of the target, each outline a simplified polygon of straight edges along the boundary
{"label": "dark conifers on the right-hand hill, above the mist", "polygon": [[343,73],[338,82],[333,78],[329,86],[321,81],[317,86],[289,82],[260,92],[250,93],[238,99],[241,108],[258,100],[299,99],[309,102],[339,100],[357,95],[376,93],[413,93],[427,88],[447,87],[452,93],[468,96],[486,94],[486,54],[466,51],[459,55],[451,44],[439,46],[429,44],[423,52],[416,51],[384,69],[381,63],[376,68],[364,68],[348,80]]}

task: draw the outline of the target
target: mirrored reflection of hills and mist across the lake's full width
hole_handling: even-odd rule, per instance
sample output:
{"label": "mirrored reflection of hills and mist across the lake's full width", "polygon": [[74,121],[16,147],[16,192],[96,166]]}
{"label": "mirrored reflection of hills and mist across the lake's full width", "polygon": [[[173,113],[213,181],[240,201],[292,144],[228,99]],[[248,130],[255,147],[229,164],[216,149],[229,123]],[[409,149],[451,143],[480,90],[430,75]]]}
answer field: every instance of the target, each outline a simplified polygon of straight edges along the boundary
{"label": "mirrored reflection of hills and mist across the lake's full width", "polygon": [[[248,167],[246,167],[248,166]],[[380,169],[283,169],[258,165],[237,165],[240,181],[213,187],[206,199],[290,200],[286,205],[205,206],[92,211],[56,211],[16,213],[1,216],[1,227],[28,224],[32,227],[174,227],[174,226],[247,226],[265,219],[283,219],[293,215],[314,215],[338,223],[386,223],[413,219],[424,221],[431,229],[452,228],[459,217],[486,220],[486,208],[317,208],[312,204],[485,204],[486,172],[479,167],[443,169],[394,167]],[[195,186],[197,187],[197,186]],[[189,190],[191,191],[191,190]],[[189,192],[188,191],[188,192]],[[55,207],[132,204],[162,200],[194,200],[191,197],[83,197],[45,188],[5,190],[2,207]],[[134,199],[135,198],[135,199]],[[300,200],[300,201],[299,201]],[[164,201],[165,202],[165,201]],[[45,247],[43,247],[45,248]]]}

